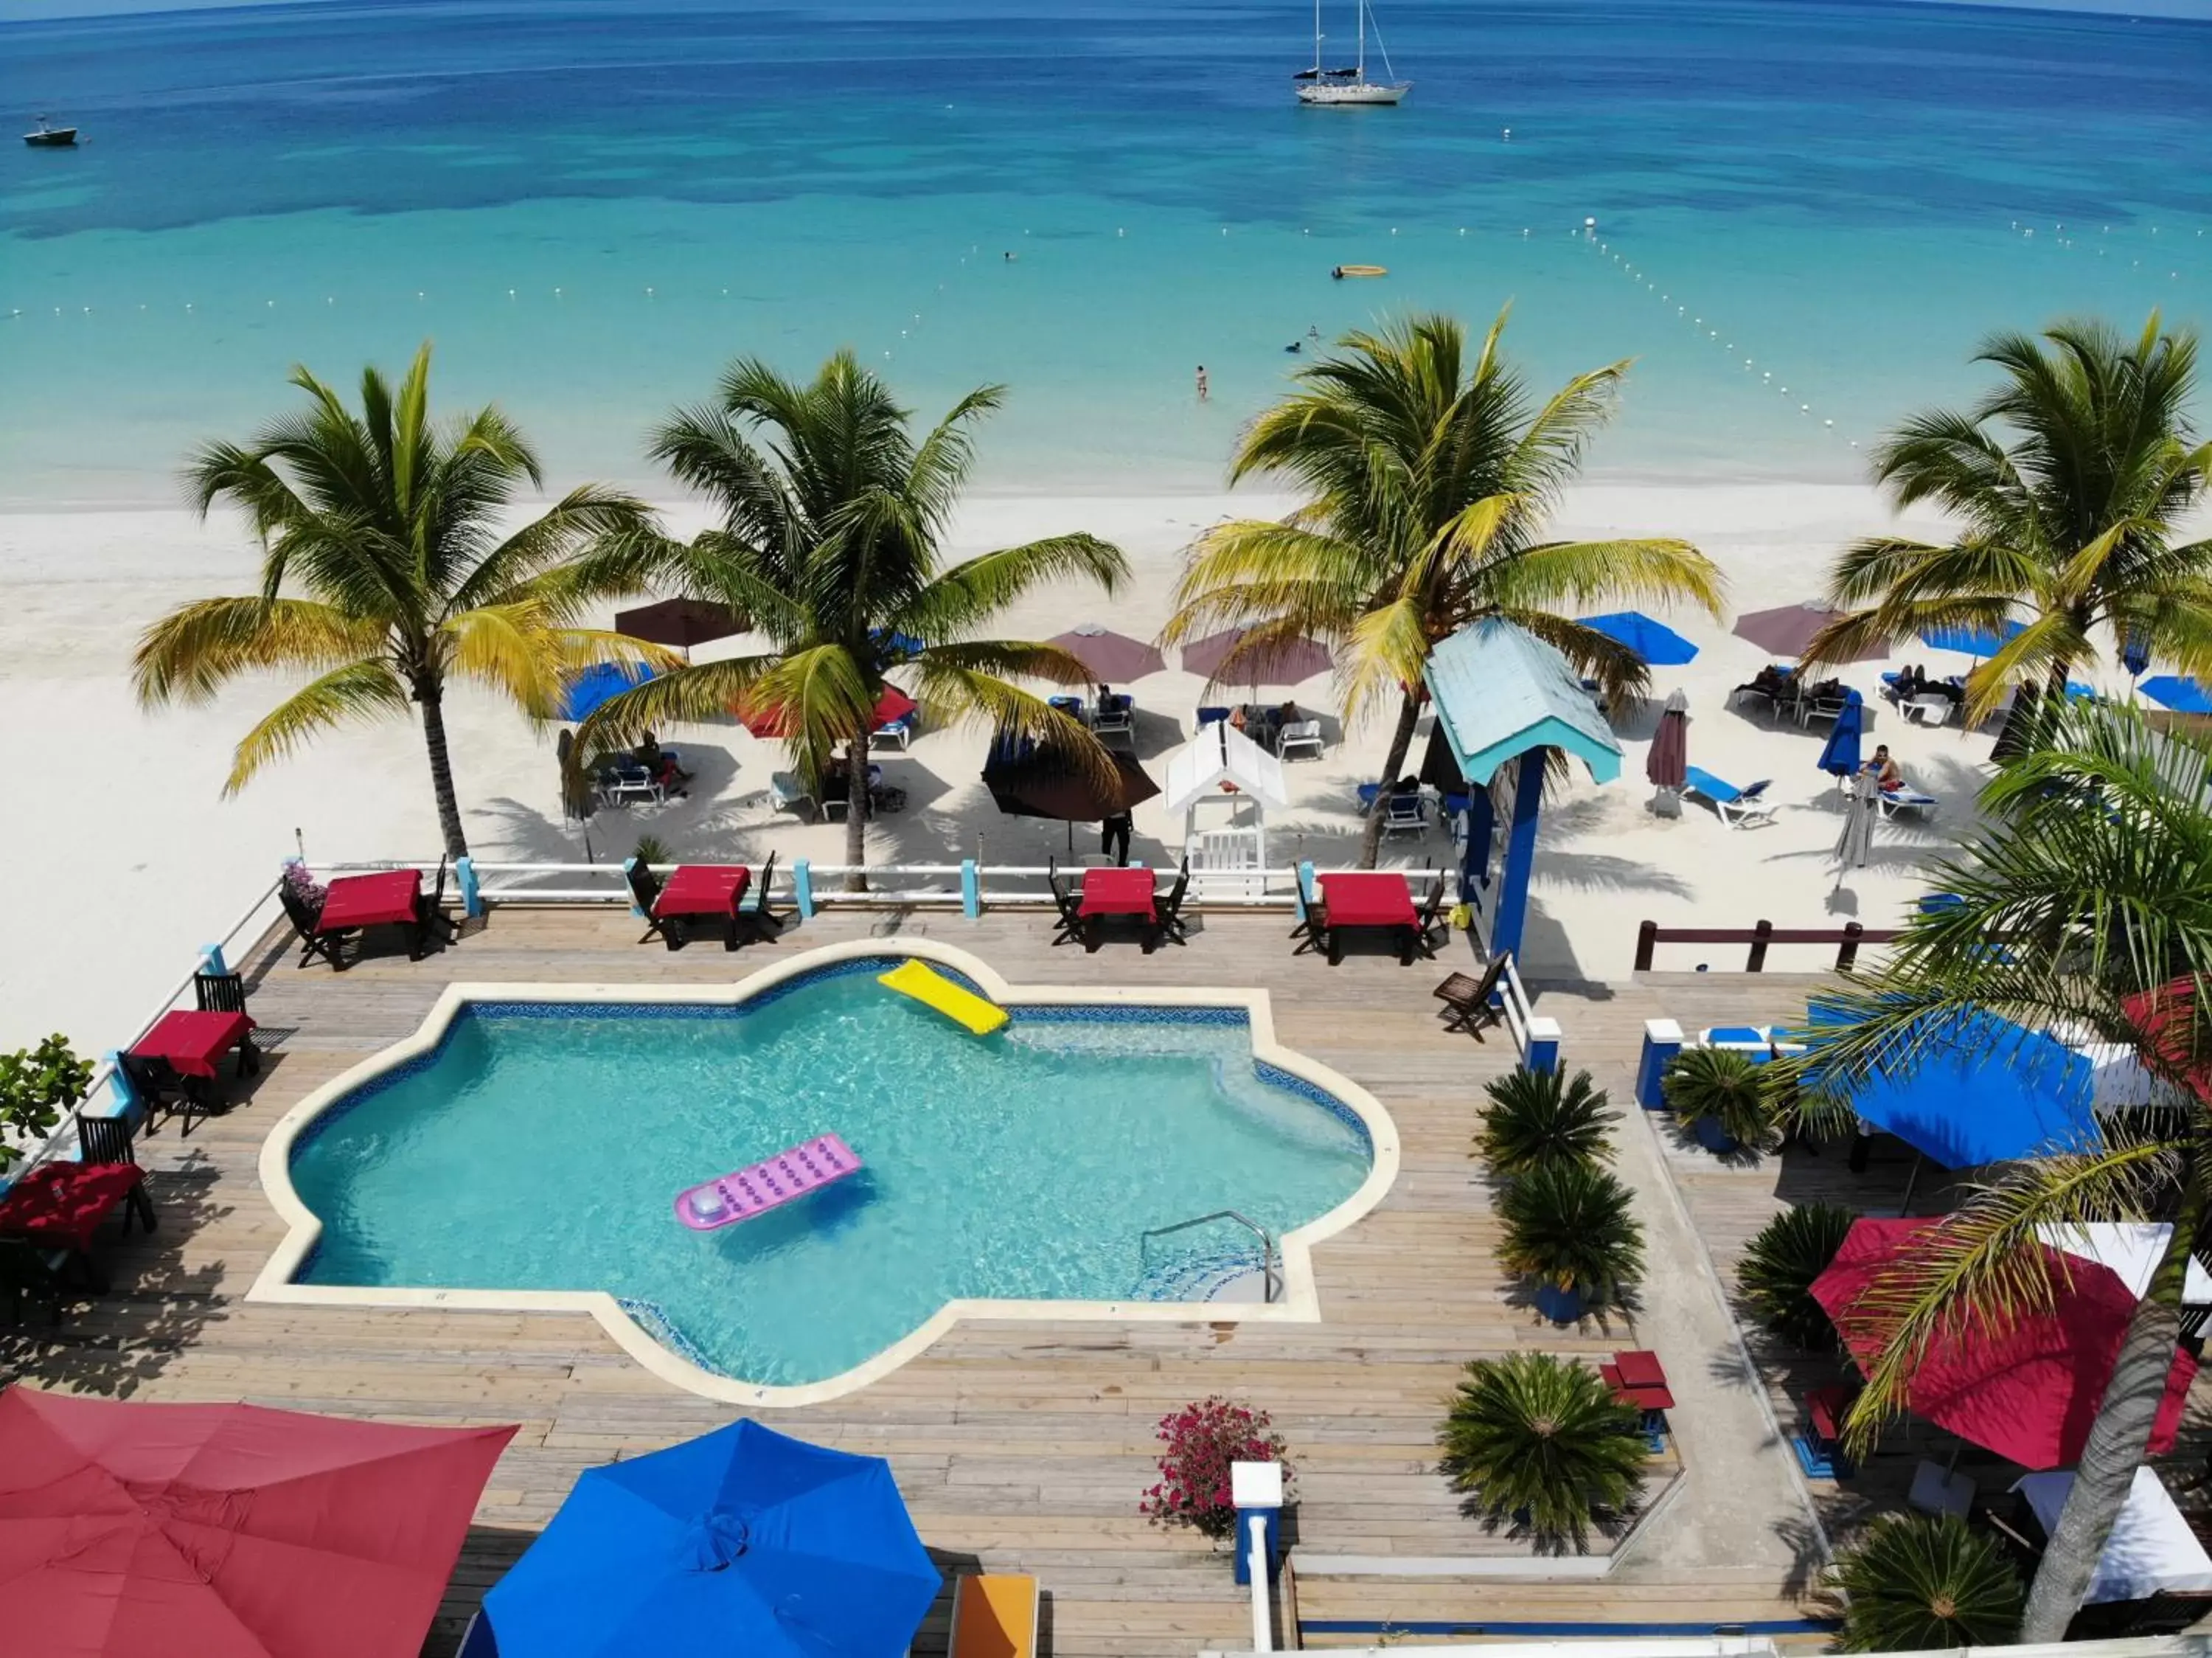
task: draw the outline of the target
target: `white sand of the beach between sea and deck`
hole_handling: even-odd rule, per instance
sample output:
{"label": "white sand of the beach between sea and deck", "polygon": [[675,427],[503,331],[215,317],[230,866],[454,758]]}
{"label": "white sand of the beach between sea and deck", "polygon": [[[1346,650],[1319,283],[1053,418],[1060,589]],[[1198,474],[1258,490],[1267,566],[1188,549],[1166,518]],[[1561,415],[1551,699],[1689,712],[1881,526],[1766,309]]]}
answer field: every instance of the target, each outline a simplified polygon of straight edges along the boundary
{"label": "white sand of the beach between sea and deck", "polygon": [[[1256,496],[1234,505],[1279,507]],[[1206,496],[978,498],[953,551],[1060,529],[1108,536],[1137,569],[1128,593],[1113,602],[1051,595],[1011,618],[1011,631],[1046,635],[1099,620],[1148,638],[1168,611],[1179,549],[1228,509],[1228,498]],[[697,514],[679,509],[672,520],[688,527]],[[1568,502],[1559,529],[1690,536],[1728,569],[1736,609],[1750,611],[1814,598],[1834,549],[1885,522],[1880,502],[1858,487],[1590,485]],[[13,770],[11,801],[0,812],[0,854],[13,872],[0,1045],[55,1027],[80,1045],[115,1045],[190,967],[195,947],[228,928],[272,877],[294,848],[294,830],[310,863],[436,857],[427,770],[411,726],[327,737],[226,801],[230,744],[281,695],[281,684],[241,684],[215,708],[144,715],[133,706],[126,675],[135,633],[179,600],[250,591],[252,571],[254,549],[230,522],[201,527],[184,514],[144,511],[0,518],[0,728],[11,737]],[[1648,726],[1626,722],[1621,779],[1608,788],[1577,781],[1546,821],[1524,950],[1531,976],[1624,976],[1646,916],[1672,925],[1750,925],[1759,916],[1783,928],[1840,925],[1849,916],[1889,925],[1924,885],[1922,863],[1971,817],[1989,737],[1902,728],[1882,706],[1876,737],[1947,806],[1927,830],[1885,826],[1874,866],[1838,890],[1829,861],[1840,828],[1836,792],[1814,768],[1820,735],[1728,713],[1728,688],[1747,680],[1763,653],[1723,626],[1672,620],[1703,646],[1688,669],[1655,675],[1659,695],[1672,686],[1690,695],[1692,764],[1739,784],[1774,777],[1778,821],[1730,832],[1697,806],[1679,821],[1655,819],[1644,784]],[[1913,657],[1931,669],[1940,662],[1940,653]],[[1845,675],[1869,693],[1869,704],[1878,669]],[[1139,733],[1152,759],[1188,735],[1199,682],[1170,671],[1130,688],[1152,715]],[[1325,680],[1298,693],[1316,713],[1334,708]],[[582,859],[582,837],[560,821],[551,733],[533,733],[513,711],[467,691],[449,704],[449,722],[478,857]],[[841,826],[805,828],[768,812],[761,790],[781,766],[781,746],[737,726],[664,737],[699,768],[692,799],[602,812],[591,826],[595,857],[624,857],[641,830],[679,857],[761,857],[768,848],[781,848],[785,859],[843,857]],[[1385,737],[1376,722],[1332,744],[1325,759],[1290,766],[1296,801],[1274,826],[1272,861],[1347,859],[1358,835],[1352,790],[1374,777]],[[911,755],[885,757],[887,781],[907,788],[909,810],[874,830],[872,859],[940,863],[980,852],[995,863],[1042,863],[1066,848],[1060,826],[991,808],[975,781],[982,746],[980,733],[927,733]],[[1139,857],[1168,859],[1179,839],[1179,823],[1139,808]],[[1086,850],[1082,830],[1075,846]],[[1436,832],[1425,843],[1394,841],[1389,857],[1447,863],[1451,848]],[[1661,954],[1661,965],[1699,961],[1728,967],[1734,950],[1674,945]],[[1774,956],[1776,967],[1816,961],[1816,952]]]}

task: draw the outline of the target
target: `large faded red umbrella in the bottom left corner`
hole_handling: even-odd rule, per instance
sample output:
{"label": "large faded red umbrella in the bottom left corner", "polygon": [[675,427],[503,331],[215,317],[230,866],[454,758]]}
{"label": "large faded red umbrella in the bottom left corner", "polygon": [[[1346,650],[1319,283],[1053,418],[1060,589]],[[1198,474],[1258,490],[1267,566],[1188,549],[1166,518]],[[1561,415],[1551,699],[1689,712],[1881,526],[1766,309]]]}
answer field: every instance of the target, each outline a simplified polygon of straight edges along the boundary
{"label": "large faded red umbrella in the bottom left corner", "polygon": [[416,1658],[513,1428],[0,1395],[0,1645]]}

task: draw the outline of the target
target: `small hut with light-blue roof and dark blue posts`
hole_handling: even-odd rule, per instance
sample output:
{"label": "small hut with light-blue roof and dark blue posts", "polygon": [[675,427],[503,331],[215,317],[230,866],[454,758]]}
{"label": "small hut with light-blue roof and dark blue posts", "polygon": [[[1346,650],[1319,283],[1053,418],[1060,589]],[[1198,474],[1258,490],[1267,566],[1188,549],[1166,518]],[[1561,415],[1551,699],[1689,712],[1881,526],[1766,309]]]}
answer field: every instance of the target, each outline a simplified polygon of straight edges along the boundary
{"label": "small hut with light-blue roof and dark blue posts", "polygon": [[1546,755],[1557,748],[1610,784],[1621,746],[1566,657],[1502,618],[1471,622],[1429,651],[1422,682],[1436,706],[1431,750],[1467,781],[1460,901],[1491,954],[1520,952]]}

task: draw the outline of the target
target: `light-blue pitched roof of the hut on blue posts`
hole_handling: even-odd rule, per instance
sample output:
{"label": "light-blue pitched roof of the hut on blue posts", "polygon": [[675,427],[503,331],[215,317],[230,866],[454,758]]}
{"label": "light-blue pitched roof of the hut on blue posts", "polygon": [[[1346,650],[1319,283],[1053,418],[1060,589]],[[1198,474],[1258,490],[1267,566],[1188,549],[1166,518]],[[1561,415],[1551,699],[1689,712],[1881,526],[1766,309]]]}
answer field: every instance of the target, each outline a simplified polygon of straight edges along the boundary
{"label": "light-blue pitched roof of the hut on blue posts", "polygon": [[1420,677],[1475,786],[1531,748],[1564,748],[1599,784],[1621,775],[1621,746],[1566,657],[1513,622],[1471,622],[1429,651]]}

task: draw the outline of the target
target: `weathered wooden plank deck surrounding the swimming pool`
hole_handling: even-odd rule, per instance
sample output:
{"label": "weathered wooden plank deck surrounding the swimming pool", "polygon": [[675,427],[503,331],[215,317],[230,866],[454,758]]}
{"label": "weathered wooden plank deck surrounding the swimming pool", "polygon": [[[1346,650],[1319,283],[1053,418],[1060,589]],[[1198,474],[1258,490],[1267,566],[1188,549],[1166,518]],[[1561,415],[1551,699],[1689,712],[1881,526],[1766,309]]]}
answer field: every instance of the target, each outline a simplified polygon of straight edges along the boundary
{"label": "weathered wooden plank deck surrounding the swimming pool", "polygon": [[[369,956],[345,974],[296,970],[263,947],[246,963],[270,1043],[250,1096],[179,1140],[142,1142],[161,1229],[111,1246],[115,1288],[60,1330],[0,1335],[0,1372],[135,1399],[250,1399],[303,1410],[442,1423],[522,1423],[478,1514],[453,1596],[427,1651],[449,1651],[482,1587],[529,1543],[593,1463],[697,1434],[732,1415],[633,1364],[582,1315],[325,1310],[243,1299],[279,1240],[254,1158],[292,1102],[411,1032],[436,994],[469,981],[728,981],[770,958],[854,936],[927,934],[980,954],[1013,983],[1263,985],[1276,1029],[1371,1089],[1398,1122],[1402,1173],[1380,1209],[1316,1251],[1323,1322],[964,1324],[891,1377],[827,1406],[772,1412],[779,1428],[891,1459],[947,1572],[1035,1572],[1060,1658],[1192,1654],[1250,1643],[1248,1603],[1203,1541],[1148,1527],[1152,1428],[1170,1408],[1228,1392],[1265,1406],[1298,1474],[1303,1550],[1332,1556],[1526,1556],[1458,1512],[1433,1472],[1433,1432],[1467,1359],[1515,1348],[1601,1355],[1635,1330],[1553,1330],[1493,1262],[1495,1222],[1469,1162],[1480,1085],[1511,1038],[1444,1036],[1431,985],[1458,963],[1389,956],[1327,967],[1294,958],[1281,916],[1201,919],[1188,947],[1086,956],[1048,947],[1037,914],[832,912],[779,945],[639,947],[615,910],[500,910],[422,963]],[[1710,978],[1670,987],[1557,992],[1571,1063],[1595,1063],[1626,1102],[1641,1020],[1741,1023],[1803,989]],[[1801,1001],[1798,1001],[1801,1005]],[[1756,1202],[1754,1202],[1756,1206]],[[1661,1465],[1661,1472],[1666,1468]],[[1787,1514],[1759,1516],[1790,1525]],[[1670,1510],[1661,1523],[1677,1525]],[[1681,1519],[1681,1525],[1694,1521]],[[1725,1554],[1719,1552],[1719,1554]],[[1626,1563],[1624,1563],[1626,1565]],[[1723,1558],[1663,1561],[1621,1581],[1301,1581],[1325,1620],[1688,1620],[1801,1616],[1803,1572]],[[920,1649],[942,1643],[945,1603]]]}

